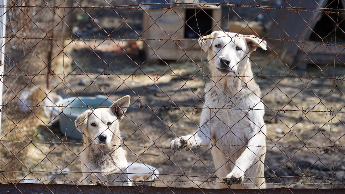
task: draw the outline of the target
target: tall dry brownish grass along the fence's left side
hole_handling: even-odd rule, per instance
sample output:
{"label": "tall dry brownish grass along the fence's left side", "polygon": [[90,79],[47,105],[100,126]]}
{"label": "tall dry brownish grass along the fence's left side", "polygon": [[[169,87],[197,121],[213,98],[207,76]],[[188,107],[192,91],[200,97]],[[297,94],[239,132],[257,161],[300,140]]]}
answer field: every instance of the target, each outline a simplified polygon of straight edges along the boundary
{"label": "tall dry brownish grass along the fence's left side", "polygon": [[[59,4],[62,2],[54,1]],[[38,1],[20,0],[16,3],[21,6],[44,6],[44,2]],[[44,38],[61,38],[64,24],[59,23],[61,19],[57,15],[62,14],[63,9],[55,10],[54,13],[42,11],[39,7],[12,8],[7,12],[6,35],[13,38],[6,42],[5,74],[8,76],[4,77],[3,86],[5,108],[2,109],[0,155],[4,157],[0,158],[0,170],[13,172],[2,172],[1,182],[16,182],[12,179],[24,176],[21,171],[29,171],[29,142],[37,136],[37,127],[48,123],[37,105],[42,105],[49,89],[57,85],[56,79],[44,74],[62,72],[63,59],[59,47],[62,48],[63,41],[46,41]],[[51,30],[52,26],[55,27],[54,30]],[[57,31],[59,32],[56,33]],[[51,71],[48,71],[48,67]],[[61,79],[58,84],[60,81]]]}

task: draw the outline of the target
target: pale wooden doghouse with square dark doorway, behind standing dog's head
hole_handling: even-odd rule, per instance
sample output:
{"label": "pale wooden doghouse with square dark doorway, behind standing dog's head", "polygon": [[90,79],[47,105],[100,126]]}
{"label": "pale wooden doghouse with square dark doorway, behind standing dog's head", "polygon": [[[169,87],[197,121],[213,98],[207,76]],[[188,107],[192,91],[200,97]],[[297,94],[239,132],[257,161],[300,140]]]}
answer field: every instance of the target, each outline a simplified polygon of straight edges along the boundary
{"label": "pale wooden doghouse with square dark doorway, behind standing dog's head", "polygon": [[[166,1],[164,1],[166,2]],[[164,3],[162,2],[162,3]],[[154,6],[160,6],[160,9]],[[169,9],[162,9],[162,6]],[[158,4],[144,11],[144,51],[149,60],[206,59],[198,45],[200,36],[220,30],[221,6],[208,4]],[[184,7],[181,7],[184,6]]]}

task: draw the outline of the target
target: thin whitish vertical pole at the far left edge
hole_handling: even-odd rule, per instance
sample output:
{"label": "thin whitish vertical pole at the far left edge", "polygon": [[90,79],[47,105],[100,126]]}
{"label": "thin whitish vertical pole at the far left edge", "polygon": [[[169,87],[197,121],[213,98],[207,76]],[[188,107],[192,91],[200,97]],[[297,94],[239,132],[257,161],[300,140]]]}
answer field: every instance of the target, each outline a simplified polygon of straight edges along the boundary
{"label": "thin whitish vertical pole at the far left edge", "polygon": [[6,35],[6,8],[7,0],[0,0],[0,139],[1,139],[1,116],[2,116],[2,87],[4,77],[5,59],[5,35]]}

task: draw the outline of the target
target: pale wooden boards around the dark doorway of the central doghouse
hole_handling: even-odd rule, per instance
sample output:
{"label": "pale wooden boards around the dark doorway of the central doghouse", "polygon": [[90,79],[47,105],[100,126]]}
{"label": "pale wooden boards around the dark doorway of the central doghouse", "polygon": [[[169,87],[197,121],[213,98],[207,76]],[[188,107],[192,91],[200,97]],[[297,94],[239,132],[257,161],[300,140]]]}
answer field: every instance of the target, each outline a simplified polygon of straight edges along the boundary
{"label": "pale wooden boards around the dark doorway of the central doghouse", "polygon": [[[212,9],[213,19],[212,30],[219,30],[221,26],[221,7],[212,6],[203,9]],[[178,60],[183,57],[183,60],[188,60],[187,55],[193,60],[206,59],[207,54],[201,55],[201,48],[198,45],[198,40],[184,40],[185,29],[185,14],[186,9],[176,8],[172,10],[146,10],[144,13],[144,32],[145,39],[144,51],[147,58],[150,59],[164,59],[164,60]],[[156,20],[156,21],[155,21]],[[163,40],[150,40],[163,39]],[[173,41],[167,39],[181,39],[180,41]],[[151,55],[153,55],[151,57]],[[159,56],[159,57],[158,57]]]}

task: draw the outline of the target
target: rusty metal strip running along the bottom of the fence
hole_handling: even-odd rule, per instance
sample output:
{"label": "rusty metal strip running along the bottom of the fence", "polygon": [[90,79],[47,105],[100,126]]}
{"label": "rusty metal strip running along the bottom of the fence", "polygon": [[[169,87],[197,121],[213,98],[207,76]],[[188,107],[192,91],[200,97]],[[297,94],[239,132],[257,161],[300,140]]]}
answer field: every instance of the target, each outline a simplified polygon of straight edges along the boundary
{"label": "rusty metal strip running along the bottom of the fence", "polygon": [[0,183],[1,194],[344,194],[345,188],[206,189],[139,186]]}

